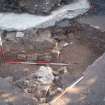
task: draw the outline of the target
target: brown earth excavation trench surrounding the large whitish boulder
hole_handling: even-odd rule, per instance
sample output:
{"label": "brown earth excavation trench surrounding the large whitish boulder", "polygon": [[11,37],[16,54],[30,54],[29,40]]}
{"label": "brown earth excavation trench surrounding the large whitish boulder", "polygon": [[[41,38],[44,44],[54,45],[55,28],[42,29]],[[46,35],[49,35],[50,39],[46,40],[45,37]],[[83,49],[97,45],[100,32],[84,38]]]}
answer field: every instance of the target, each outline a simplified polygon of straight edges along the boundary
{"label": "brown earth excavation trench surrounding the large whitish boulder", "polygon": [[[23,89],[24,86],[20,86],[20,83],[18,82],[26,81],[27,77],[30,78],[30,75],[37,72],[40,66],[49,65],[53,69],[55,79],[50,85],[46,95],[43,96],[42,94],[30,89],[28,92],[26,92],[28,95],[31,94],[31,97],[38,99],[36,102],[37,104],[38,102],[50,102],[55,96],[61,94],[65,88],[70,86],[70,84],[72,84],[76,79],[81,77],[86,68],[91,65],[99,56],[101,56],[105,50],[105,32],[101,32],[100,30],[92,28],[89,25],[80,24],[78,22],[73,22],[73,24],[65,28],[59,28],[56,26],[47,29],[33,29],[26,32],[23,31],[23,33],[24,36],[22,36],[22,33],[18,33],[21,34],[18,36],[17,32],[15,31],[2,32],[3,50],[5,56],[1,57],[0,77],[12,77],[13,84],[20,88],[24,93],[26,92],[24,90],[29,87],[27,86],[27,88]],[[28,39],[25,37],[28,35],[27,33],[30,34]],[[45,37],[49,37],[49,34],[51,35],[50,39],[48,38],[47,40],[48,43],[45,45],[42,43],[43,38],[39,38],[37,40],[41,40],[41,43],[37,43],[37,41],[35,41],[33,38],[33,36],[36,34],[41,35],[41,33],[48,34]],[[9,37],[9,34],[12,35],[12,37]],[[37,37],[38,36],[36,35],[35,38]],[[52,42],[51,39],[54,39],[54,42]],[[36,43],[36,46],[33,44],[33,42]],[[58,53],[52,53],[52,49],[54,48],[56,51],[61,52],[59,57],[57,55]],[[38,53],[39,55],[35,55],[35,53]],[[69,64],[69,66],[55,66],[50,64],[10,64],[12,61],[37,62],[40,60],[47,60],[47,62],[54,63],[62,62]],[[31,79],[28,80],[31,81]],[[37,96],[38,94],[39,96]],[[41,95],[45,100],[41,97]]]}

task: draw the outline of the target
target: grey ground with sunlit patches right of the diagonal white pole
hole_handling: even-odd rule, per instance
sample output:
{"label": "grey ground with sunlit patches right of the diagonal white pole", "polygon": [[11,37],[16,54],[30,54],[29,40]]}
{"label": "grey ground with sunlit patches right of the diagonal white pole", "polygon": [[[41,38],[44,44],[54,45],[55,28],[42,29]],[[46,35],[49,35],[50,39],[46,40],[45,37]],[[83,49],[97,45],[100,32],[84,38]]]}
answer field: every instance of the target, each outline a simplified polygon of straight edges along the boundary
{"label": "grey ground with sunlit patches right of the diagonal white pole", "polygon": [[59,97],[51,105],[105,105],[105,53],[90,65],[83,79]]}

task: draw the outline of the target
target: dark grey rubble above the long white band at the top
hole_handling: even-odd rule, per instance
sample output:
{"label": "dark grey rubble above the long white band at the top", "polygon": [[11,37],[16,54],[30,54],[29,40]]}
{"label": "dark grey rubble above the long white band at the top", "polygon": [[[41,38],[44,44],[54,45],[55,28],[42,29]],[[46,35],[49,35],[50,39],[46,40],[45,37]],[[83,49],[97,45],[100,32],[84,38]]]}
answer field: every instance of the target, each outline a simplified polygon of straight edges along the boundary
{"label": "dark grey rubble above the long white band at the top", "polygon": [[49,14],[62,3],[67,4],[73,0],[0,0],[1,12],[28,12],[32,14]]}

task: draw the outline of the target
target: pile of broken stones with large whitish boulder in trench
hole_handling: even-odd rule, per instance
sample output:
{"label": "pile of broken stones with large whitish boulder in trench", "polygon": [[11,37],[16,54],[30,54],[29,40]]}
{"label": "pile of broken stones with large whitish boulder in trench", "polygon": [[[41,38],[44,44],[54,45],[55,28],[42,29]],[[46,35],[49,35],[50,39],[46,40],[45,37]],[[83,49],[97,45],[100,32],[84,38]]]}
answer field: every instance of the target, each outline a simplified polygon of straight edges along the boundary
{"label": "pile of broken stones with large whitish boulder in trench", "polygon": [[60,76],[68,73],[63,67],[53,70],[50,66],[40,66],[36,72],[15,82],[15,86],[24,93],[30,94],[37,103],[48,103],[53,97],[63,92]]}

